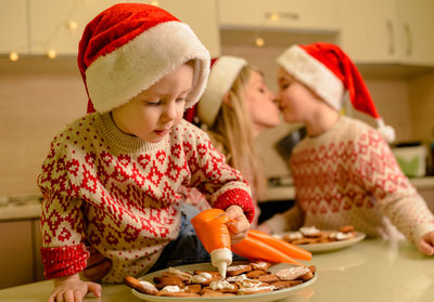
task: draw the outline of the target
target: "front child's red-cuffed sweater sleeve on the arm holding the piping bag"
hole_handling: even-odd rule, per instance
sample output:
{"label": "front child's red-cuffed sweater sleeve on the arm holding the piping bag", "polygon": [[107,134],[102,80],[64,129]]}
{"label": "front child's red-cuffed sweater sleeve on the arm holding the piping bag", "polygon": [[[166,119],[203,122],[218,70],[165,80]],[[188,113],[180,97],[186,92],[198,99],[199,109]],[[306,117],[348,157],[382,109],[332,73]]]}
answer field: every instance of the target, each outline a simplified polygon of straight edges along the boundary
{"label": "front child's red-cuffed sweater sleeve on the arm holding the piping bag", "polygon": [[189,186],[203,193],[214,208],[240,206],[252,222],[255,209],[251,189],[241,173],[226,163],[225,156],[210,143],[207,134],[193,130],[192,140],[184,142],[186,156],[191,171]]}

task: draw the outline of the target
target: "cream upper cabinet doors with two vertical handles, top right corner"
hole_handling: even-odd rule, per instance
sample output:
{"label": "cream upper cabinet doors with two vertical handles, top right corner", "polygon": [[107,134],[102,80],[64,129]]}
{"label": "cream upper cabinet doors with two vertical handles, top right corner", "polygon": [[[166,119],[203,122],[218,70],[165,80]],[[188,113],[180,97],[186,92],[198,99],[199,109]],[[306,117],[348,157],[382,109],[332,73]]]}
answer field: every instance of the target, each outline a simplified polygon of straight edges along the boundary
{"label": "cream upper cabinet doors with two vertical handles, top right corner", "polygon": [[340,0],[340,44],[359,64],[434,66],[434,1]]}

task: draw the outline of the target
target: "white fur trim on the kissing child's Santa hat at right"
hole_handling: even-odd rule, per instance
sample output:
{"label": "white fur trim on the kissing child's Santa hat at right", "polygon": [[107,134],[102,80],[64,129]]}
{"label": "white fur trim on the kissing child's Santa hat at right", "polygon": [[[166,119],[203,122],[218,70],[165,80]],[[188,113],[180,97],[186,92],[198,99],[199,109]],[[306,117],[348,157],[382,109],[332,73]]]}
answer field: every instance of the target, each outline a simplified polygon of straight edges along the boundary
{"label": "white fur trim on the kissing child's Santa hat at right", "polygon": [[345,89],[341,79],[302,48],[291,47],[277,58],[277,62],[333,108],[336,110],[342,108]]}

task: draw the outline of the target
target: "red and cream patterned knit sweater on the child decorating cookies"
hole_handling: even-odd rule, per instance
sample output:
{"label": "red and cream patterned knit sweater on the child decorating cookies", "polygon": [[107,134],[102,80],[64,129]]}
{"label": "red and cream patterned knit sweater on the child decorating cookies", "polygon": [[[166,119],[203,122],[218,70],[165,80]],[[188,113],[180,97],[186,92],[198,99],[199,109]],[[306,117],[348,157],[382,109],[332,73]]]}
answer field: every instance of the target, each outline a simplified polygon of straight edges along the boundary
{"label": "red and cream patterned knit sweater on the child decorating cookies", "polygon": [[254,215],[241,174],[184,120],[146,143],[118,130],[110,114],[87,115],[53,139],[38,185],[48,278],[86,267],[85,238],[113,262],[103,281],[145,273],[179,234],[181,185],[197,187],[215,208],[239,205]]}

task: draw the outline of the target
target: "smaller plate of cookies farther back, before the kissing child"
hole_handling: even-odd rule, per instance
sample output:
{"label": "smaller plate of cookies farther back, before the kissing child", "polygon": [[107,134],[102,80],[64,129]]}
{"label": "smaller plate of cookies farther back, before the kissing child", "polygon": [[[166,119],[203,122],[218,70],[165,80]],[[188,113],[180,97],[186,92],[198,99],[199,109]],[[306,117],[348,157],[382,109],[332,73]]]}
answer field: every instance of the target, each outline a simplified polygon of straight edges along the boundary
{"label": "smaller plate of cookies farther back, before the kissing child", "polygon": [[363,240],[366,237],[363,233],[355,231],[353,225],[345,225],[339,229],[303,226],[298,231],[275,234],[273,236],[310,252],[343,249]]}

